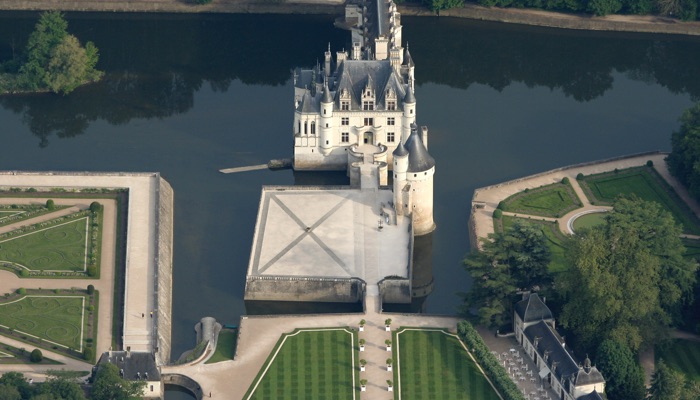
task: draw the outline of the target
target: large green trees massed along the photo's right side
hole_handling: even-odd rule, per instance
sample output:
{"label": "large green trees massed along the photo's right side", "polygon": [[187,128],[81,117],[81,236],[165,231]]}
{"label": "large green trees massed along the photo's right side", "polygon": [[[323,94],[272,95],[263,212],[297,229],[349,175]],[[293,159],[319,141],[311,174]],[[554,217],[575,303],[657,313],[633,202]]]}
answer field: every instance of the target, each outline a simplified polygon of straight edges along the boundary
{"label": "large green trees massed along the photo's right side", "polygon": [[[700,104],[680,122],[667,164],[700,200]],[[480,324],[509,329],[519,293],[538,291],[573,338],[567,344],[594,356],[608,399],[698,399],[700,384],[663,362],[646,390],[637,361],[640,351],[667,343],[671,329],[700,333],[700,270],[686,257],[681,233],[658,203],[619,197],[604,223],[567,239],[568,268],[553,276],[541,226],[516,221],[466,257],[473,283],[463,312]]]}

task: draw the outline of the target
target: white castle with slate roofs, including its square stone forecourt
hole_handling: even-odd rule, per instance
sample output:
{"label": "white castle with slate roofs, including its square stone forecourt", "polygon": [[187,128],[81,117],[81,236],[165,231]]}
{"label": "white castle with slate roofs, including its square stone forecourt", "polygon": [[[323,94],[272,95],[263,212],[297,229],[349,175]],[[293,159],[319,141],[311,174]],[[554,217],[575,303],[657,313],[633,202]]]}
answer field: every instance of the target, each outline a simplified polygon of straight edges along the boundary
{"label": "white castle with slate roofs, including its square stone forecourt", "polygon": [[[294,169],[341,170],[350,186],[264,187],[247,301],[407,304],[416,237],[433,221],[435,160],[416,125],[415,66],[392,1],[349,4],[352,51],[294,71]],[[389,173],[391,172],[391,176]],[[424,276],[425,275],[425,276]]]}

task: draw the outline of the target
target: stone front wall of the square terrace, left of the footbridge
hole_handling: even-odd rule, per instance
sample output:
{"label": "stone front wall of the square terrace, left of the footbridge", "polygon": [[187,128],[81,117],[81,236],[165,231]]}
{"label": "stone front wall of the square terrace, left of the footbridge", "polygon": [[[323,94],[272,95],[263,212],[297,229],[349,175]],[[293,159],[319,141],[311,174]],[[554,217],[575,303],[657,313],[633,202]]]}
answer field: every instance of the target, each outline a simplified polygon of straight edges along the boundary
{"label": "stone front wall of the square terrace, left of the footbridge", "polygon": [[313,278],[249,276],[245,300],[317,301],[357,303],[362,300],[365,282],[357,278]]}

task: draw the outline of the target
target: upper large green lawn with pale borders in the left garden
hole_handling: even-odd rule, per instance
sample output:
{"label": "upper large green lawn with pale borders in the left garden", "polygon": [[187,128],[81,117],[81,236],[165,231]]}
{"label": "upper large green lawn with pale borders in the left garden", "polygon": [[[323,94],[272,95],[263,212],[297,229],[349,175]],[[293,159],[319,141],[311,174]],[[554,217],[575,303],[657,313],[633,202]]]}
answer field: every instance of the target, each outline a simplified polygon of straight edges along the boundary
{"label": "upper large green lawn with pale borders in the left garden", "polygon": [[0,260],[29,270],[84,271],[88,222],[79,218],[0,241]]}

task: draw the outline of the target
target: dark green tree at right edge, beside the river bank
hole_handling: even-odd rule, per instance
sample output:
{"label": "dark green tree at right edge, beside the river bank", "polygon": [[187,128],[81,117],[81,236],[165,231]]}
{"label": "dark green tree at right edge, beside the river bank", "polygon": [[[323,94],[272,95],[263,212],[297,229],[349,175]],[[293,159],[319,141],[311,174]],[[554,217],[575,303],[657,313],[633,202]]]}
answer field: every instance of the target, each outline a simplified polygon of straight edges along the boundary
{"label": "dark green tree at right edge, beside the river bank", "polygon": [[671,135],[668,169],[695,199],[700,199],[700,103],[685,110],[681,127]]}

